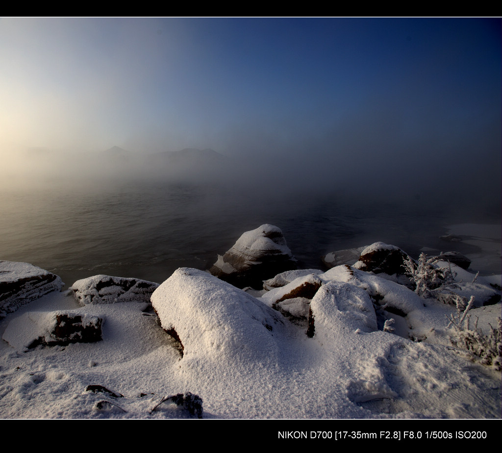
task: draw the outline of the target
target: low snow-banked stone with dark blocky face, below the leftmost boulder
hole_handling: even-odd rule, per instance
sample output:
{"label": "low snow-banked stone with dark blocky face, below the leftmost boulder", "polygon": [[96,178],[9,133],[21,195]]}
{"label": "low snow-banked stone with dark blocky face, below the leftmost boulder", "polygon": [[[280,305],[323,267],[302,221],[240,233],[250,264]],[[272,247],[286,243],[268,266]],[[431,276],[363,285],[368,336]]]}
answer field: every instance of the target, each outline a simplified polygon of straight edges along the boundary
{"label": "low snow-banked stone with dark blocky face, below the leftmost boulder", "polygon": [[103,317],[78,310],[28,312],[9,323],[2,338],[23,351],[38,345],[92,343],[102,339]]}

